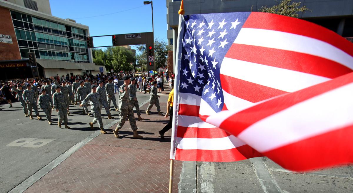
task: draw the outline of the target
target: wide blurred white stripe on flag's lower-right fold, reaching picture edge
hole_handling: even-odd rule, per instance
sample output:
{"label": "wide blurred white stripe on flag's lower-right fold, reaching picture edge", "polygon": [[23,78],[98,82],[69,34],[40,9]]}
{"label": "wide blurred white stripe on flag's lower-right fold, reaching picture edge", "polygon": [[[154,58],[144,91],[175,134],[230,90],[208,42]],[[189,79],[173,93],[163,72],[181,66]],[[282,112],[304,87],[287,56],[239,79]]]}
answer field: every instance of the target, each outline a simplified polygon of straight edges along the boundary
{"label": "wide blurred white stripe on flag's lower-right fold, reaching picture edge", "polygon": [[353,124],[352,95],[353,83],[336,88],[252,124],[238,137],[266,152]]}

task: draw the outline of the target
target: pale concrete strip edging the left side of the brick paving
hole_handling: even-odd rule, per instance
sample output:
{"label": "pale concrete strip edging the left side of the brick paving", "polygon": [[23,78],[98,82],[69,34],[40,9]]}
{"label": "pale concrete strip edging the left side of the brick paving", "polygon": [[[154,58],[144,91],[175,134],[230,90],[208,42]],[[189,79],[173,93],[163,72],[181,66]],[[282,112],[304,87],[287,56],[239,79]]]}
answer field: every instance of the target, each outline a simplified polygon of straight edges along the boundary
{"label": "pale concrete strip edging the left side of the brick paving", "polygon": [[[149,102],[149,99],[146,101],[143,101],[139,107],[142,107],[145,105],[147,102]],[[108,123],[107,125],[104,126],[104,128],[108,129],[109,127],[115,125],[118,123],[119,119],[113,120],[112,122]],[[44,175],[49,173],[52,169],[54,169],[56,166],[58,166],[61,162],[65,161],[66,158],[68,158],[70,155],[72,155],[74,152],[76,152],[78,149],[83,147],[85,144],[90,142],[92,139],[97,137],[98,135],[101,134],[101,131],[95,131],[92,133],[90,136],[86,137],[82,141],[76,143],[74,146],[72,146],[70,149],[68,149],[65,153],[61,154],[60,156],[56,157],[53,161],[48,163],[46,166],[38,170],[36,173],[33,175],[29,176],[27,179],[25,179],[23,182],[21,182],[19,185],[16,187],[12,188],[9,192],[7,193],[22,193],[26,189],[28,189],[30,186],[32,186],[35,182],[40,180]]]}

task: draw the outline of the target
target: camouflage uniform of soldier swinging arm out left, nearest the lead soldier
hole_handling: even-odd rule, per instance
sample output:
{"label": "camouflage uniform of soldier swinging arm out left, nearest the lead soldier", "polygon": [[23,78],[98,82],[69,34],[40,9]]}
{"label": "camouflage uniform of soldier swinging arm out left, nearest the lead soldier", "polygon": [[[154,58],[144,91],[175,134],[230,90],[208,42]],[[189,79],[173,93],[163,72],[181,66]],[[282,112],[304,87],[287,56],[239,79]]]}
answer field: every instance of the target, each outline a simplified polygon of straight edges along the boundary
{"label": "camouflage uniform of soldier swinging arm out left, nearest the lead soldier", "polygon": [[87,106],[88,101],[90,101],[91,105],[91,113],[93,113],[94,119],[92,123],[95,124],[98,122],[100,128],[103,128],[103,120],[101,116],[101,101],[100,95],[96,93],[89,93],[87,97],[81,102],[83,106]]}

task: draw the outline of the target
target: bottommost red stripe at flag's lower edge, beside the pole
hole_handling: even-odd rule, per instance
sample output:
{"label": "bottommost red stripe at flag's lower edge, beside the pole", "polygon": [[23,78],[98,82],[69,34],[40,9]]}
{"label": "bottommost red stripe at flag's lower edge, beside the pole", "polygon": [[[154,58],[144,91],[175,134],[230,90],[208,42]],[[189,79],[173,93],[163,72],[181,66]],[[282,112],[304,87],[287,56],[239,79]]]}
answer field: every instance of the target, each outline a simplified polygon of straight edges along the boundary
{"label": "bottommost red stripe at flag's lower edge, beside the pole", "polygon": [[262,157],[255,149],[249,145],[226,150],[202,150],[202,149],[178,149],[175,152],[176,160],[202,161],[202,162],[234,162],[249,159],[252,157]]}

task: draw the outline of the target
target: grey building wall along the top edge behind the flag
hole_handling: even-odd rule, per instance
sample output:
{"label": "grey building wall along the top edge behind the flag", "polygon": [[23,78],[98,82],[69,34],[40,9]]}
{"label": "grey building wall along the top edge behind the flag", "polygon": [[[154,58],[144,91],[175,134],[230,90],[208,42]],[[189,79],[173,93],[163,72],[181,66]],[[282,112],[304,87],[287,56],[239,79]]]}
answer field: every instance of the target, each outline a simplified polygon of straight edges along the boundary
{"label": "grey building wall along the top edge behind the flag", "polygon": [[[292,0],[302,2],[312,12],[299,15],[300,18],[335,17],[353,15],[353,0]],[[184,1],[185,15],[222,12],[250,12],[259,10],[262,6],[273,6],[275,0],[186,0]],[[167,0],[167,23],[171,27],[178,27],[180,1]]]}

